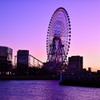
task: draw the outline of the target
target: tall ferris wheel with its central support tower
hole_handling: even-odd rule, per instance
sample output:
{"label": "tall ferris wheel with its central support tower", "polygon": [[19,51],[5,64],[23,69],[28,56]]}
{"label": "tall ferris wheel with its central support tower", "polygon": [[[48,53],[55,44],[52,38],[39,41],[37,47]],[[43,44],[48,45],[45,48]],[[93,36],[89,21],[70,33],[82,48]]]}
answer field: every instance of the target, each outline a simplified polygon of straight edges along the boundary
{"label": "tall ferris wheel with its central support tower", "polygon": [[60,7],[52,15],[47,32],[47,62],[67,63],[71,24],[67,11]]}

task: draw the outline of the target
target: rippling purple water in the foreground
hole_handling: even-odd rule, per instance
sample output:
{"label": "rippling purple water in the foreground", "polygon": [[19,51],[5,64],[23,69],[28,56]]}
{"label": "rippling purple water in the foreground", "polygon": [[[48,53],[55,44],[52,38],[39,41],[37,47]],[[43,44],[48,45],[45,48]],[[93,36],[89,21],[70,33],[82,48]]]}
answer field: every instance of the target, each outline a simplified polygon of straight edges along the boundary
{"label": "rippling purple water in the foreground", "polygon": [[58,81],[0,81],[0,100],[100,100],[100,89],[59,86]]}

